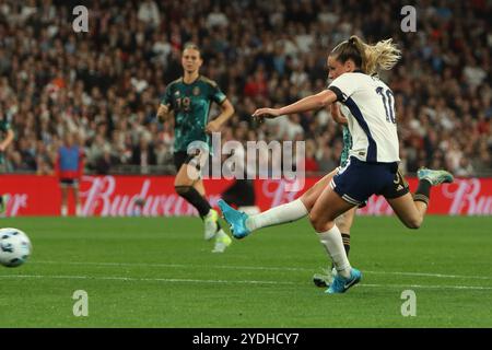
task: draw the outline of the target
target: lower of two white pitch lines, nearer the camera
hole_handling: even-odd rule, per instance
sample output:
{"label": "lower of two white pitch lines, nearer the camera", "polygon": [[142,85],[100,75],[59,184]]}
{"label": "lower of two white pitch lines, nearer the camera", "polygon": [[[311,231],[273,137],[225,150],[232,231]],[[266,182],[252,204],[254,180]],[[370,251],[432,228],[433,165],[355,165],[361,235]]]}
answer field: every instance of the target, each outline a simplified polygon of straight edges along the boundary
{"label": "lower of two white pitch lines, nearer the camera", "polygon": [[[225,283],[225,284],[284,284],[284,285],[302,285],[305,283],[289,282],[289,281],[255,281],[255,280],[197,280],[197,279],[177,279],[177,278],[134,278],[120,276],[47,276],[47,275],[0,275],[0,279],[15,279],[15,278],[36,278],[36,279],[83,279],[83,280],[112,280],[112,281],[147,281],[147,282],[167,282],[167,283]],[[362,283],[356,288],[419,288],[419,289],[458,289],[458,290],[492,290],[492,287],[481,285],[426,285],[426,284],[371,284]]]}

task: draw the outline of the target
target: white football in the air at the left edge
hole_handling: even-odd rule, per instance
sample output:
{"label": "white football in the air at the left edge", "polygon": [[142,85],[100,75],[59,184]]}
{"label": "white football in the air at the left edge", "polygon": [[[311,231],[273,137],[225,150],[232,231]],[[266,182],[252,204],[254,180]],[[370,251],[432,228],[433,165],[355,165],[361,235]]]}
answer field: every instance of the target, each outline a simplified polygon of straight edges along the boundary
{"label": "white football in the air at the left edge", "polygon": [[0,229],[0,264],[16,267],[24,264],[33,250],[27,235],[19,229]]}

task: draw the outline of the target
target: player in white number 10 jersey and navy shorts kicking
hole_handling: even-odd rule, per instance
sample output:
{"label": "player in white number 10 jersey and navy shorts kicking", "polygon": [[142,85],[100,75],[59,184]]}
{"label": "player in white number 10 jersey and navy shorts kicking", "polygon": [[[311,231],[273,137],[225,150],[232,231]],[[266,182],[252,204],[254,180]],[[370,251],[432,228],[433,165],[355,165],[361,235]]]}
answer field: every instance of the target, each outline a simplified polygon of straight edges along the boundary
{"label": "player in white number 10 jersey and navy shorts kicking", "polygon": [[[418,172],[419,187],[412,196],[398,172],[400,159],[395,100],[391,90],[372,73],[391,69],[400,54],[390,39],[367,45],[352,36],[336,46],[328,57],[329,74],[333,81],[327,90],[281,108],[259,108],[253,115],[274,118],[327,107],[336,102],[350,110],[347,115],[353,142],[350,159],[323,189],[309,211],[309,221],[338,272],[327,290],[330,294],[343,293],[362,278],[347,258],[335,223],[337,217],[363,203],[372,195],[383,195],[406,226],[418,229],[429,206],[431,186],[453,182],[448,172],[422,168]],[[225,203],[221,203],[221,209],[232,224],[235,237],[242,238],[249,233],[245,230],[243,213],[231,210]],[[307,212],[298,203],[292,208],[297,215],[300,211]]]}

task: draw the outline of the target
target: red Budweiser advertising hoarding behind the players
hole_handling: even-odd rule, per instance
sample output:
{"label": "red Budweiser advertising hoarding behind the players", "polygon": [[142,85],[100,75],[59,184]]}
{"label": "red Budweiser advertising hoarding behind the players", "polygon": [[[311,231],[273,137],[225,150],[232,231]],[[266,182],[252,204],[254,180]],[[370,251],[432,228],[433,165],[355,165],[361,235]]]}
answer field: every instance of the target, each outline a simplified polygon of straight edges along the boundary
{"label": "red Budweiser advertising hoarding behind the players", "polygon": [[[255,191],[261,210],[291,201],[309,188],[318,178],[306,178],[297,192],[286,191],[283,180],[257,179]],[[221,192],[232,184],[225,179],[208,179],[206,188],[212,206]],[[409,178],[413,190],[415,178]],[[84,176],[80,192],[82,213],[98,217],[172,217],[195,215],[196,210],[174,191],[172,176]],[[7,215],[58,215],[61,192],[52,176],[2,175],[0,192],[7,195]],[[142,208],[136,199],[143,198]],[[73,206],[71,205],[71,208]],[[73,212],[73,209],[71,209]],[[393,211],[383,197],[373,196],[360,214],[388,215]],[[460,178],[454,184],[432,189],[429,213],[490,215],[492,214],[492,178]]]}

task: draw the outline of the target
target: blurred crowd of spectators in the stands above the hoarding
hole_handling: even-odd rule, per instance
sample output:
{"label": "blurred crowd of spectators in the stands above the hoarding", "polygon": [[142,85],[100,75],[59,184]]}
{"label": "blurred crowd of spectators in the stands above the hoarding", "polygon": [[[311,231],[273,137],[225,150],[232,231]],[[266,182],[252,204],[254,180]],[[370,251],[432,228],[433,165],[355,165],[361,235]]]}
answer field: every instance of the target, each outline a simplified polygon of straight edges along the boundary
{"label": "blurred crowd of spectators in the stands above the hoarding", "polygon": [[492,174],[490,1],[414,1],[414,33],[401,31],[400,1],[86,3],[89,32],[75,33],[75,1],[0,1],[0,116],[15,131],[8,172],[52,173],[67,132],[83,145],[87,171],[172,171],[173,122],[157,120],[156,109],[194,42],[201,73],[236,109],[225,140],[306,140],[306,170],[326,173],[342,149],[328,110],[261,125],[250,115],[325,89],[327,54],[356,34],[393,37],[402,49],[380,78],[395,93],[403,171]]}

